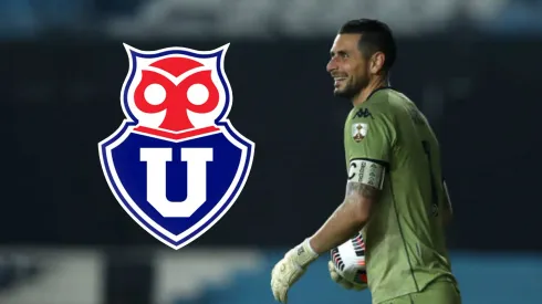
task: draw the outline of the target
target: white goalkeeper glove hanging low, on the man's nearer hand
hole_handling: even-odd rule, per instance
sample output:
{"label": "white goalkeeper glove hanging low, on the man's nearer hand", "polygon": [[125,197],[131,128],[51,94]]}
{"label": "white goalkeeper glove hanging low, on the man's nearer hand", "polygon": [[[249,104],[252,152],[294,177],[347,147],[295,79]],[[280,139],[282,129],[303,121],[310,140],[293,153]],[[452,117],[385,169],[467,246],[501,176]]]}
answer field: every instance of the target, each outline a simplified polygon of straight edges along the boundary
{"label": "white goalkeeper glove hanging low, on the man's nearer hand", "polygon": [[317,258],[319,255],[309,244],[309,239],[286,252],[271,272],[271,291],[274,300],[286,303],[288,290],[305,273],[306,266]]}

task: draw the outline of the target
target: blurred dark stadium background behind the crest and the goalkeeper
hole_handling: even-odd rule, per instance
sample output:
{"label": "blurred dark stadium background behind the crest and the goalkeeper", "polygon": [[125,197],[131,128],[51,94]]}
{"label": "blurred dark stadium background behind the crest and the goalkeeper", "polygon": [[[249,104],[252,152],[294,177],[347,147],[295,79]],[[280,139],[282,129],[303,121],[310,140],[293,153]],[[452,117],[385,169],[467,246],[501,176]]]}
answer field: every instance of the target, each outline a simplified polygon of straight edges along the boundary
{"label": "blurred dark stadium background behind the crest and the goalkeeper", "polygon": [[[343,196],[350,105],[325,64],[361,17],[393,27],[393,85],[440,138],[463,302],[542,303],[540,0],[0,0],[0,303],[273,303],[272,264]],[[231,42],[230,118],[256,163],[234,208],[178,252],[133,222],[100,168],[96,144],[123,119],[122,42]],[[325,262],[291,303],[369,303]]]}

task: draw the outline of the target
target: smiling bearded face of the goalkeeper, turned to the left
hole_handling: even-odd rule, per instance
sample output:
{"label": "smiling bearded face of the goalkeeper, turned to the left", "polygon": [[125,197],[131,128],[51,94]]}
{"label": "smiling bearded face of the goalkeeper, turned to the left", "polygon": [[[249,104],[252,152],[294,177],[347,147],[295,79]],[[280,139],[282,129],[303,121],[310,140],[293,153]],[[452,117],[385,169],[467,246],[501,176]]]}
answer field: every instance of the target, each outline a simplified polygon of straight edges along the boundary
{"label": "smiling bearded face of the goalkeeper, turned to the left", "polygon": [[326,70],[332,75],[335,96],[353,98],[368,84],[367,61],[357,43],[361,34],[338,34],[331,49]]}

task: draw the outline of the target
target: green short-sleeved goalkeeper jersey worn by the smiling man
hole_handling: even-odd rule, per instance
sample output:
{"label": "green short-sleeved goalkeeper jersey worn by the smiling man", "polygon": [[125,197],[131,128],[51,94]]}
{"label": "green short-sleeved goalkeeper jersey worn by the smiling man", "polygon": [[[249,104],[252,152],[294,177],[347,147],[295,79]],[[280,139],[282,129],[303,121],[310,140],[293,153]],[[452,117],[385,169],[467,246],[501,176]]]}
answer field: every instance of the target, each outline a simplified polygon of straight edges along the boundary
{"label": "green short-sleeved goalkeeper jersey worn by the smiling man", "polygon": [[344,147],[348,180],[382,189],[362,230],[373,303],[437,279],[455,284],[442,221],[449,198],[426,117],[402,93],[377,90],[348,114]]}

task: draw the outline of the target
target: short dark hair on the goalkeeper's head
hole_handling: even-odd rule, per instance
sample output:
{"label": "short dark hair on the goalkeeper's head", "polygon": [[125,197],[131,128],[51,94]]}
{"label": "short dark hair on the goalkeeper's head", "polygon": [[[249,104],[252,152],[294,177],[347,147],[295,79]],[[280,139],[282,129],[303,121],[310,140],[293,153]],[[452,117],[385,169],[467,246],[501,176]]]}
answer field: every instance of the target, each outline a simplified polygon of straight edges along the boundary
{"label": "short dark hair on the goalkeeper's head", "polygon": [[389,71],[395,63],[397,46],[395,45],[394,34],[389,27],[374,19],[351,20],[341,27],[340,34],[362,34],[358,49],[365,51],[371,56],[376,52],[383,52],[386,56],[384,71]]}

